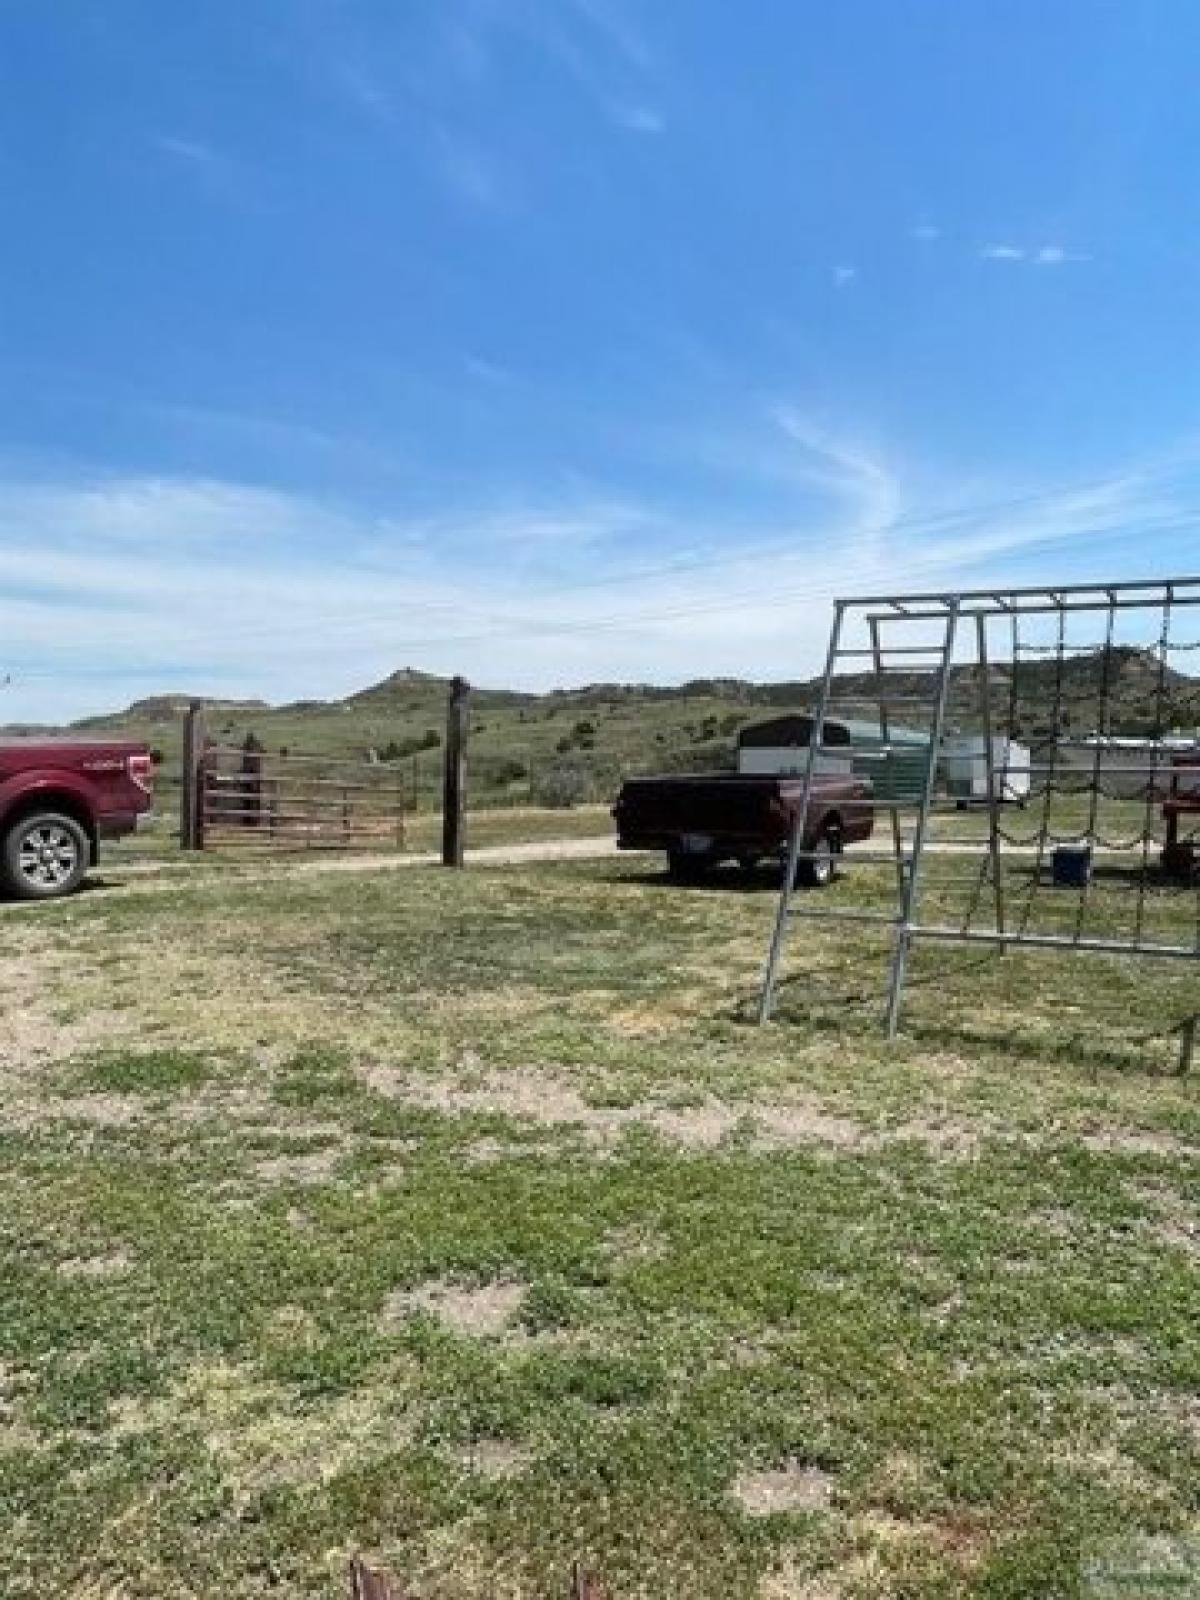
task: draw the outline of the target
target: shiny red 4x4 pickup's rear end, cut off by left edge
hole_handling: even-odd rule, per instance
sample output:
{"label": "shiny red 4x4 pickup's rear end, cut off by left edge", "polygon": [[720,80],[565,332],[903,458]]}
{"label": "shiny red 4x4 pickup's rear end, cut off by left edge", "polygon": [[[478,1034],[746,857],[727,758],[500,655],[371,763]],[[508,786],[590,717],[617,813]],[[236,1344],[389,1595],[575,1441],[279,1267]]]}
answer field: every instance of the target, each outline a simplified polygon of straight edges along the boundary
{"label": "shiny red 4x4 pickup's rear end, cut off by left edge", "polygon": [[149,819],[154,762],[130,739],[0,738],[0,891],[70,894],[101,838]]}

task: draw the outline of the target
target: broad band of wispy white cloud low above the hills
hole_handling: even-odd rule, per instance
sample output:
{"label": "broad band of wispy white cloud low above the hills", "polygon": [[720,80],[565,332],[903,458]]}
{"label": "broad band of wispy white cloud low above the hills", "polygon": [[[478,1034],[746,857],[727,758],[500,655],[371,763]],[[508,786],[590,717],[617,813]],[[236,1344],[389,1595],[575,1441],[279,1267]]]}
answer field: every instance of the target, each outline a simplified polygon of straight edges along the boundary
{"label": "broad band of wispy white cloud low above the hills", "polygon": [[336,694],[403,662],[528,686],[805,675],[834,592],[995,582],[1030,560],[1090,578],[1080,562],[1109,546],[1144,565],[1155,538],[1182,550],[1200,498],[1155,469],[931,502],[795,406],[755,438],[790,475],[752,518],[586,486],[429,518],[205,478],[0,480],[0,720],[152,690]]}

